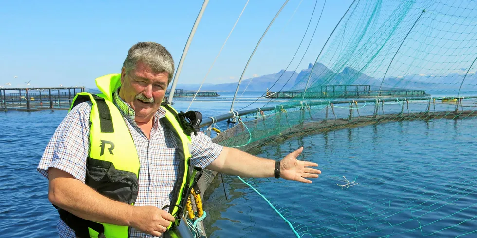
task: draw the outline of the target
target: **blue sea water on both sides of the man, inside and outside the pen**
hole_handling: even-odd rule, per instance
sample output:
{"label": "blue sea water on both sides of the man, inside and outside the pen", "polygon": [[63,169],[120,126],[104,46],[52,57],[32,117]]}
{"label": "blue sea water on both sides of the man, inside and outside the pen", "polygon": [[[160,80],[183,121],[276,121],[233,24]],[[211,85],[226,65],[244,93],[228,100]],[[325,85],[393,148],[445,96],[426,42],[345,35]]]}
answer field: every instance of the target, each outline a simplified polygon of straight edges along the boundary
{"label": "blue sea water on both sides of the man, inside and outside the pen", "polygon": [[[226,113],[233,94],[222,94],[198,99],[191,109],[204,117]],[[244,95],[236,109],[257,95]],[[178,99],[174,106],[186,110],[189,102]],[[1,237],[57,237],[58,215],[36,167],[66,113],[0,113]],[[277,159],[304,146],[300,159],[318,163],[323,174],[312,184],[247,182],[302,237],[477,237],[475,122],[392,122],[271,144],[258,155]],[[337,184],[346,184],[343,176],[359,184],[342,189]],[[234,176],[224,180],[228,200],[217,180],[204,201],[209,237],[295,236],[250,187]]]}

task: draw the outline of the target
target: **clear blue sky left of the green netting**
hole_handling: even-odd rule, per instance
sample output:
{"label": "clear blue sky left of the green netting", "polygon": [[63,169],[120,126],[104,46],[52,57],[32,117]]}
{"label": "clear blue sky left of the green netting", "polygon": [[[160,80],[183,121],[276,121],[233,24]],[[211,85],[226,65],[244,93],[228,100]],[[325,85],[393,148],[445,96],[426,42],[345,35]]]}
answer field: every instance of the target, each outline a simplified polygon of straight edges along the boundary
{"label": "clear blue sky left of the green netting", "polygon": [[[247,0],[211,0],[190,46],[180,83],[200,83]],[[206,83],[237,81],[258,39],[284,1],[250,0]],[[328,0],[312,45],[298,72],[314,62],[352,0]],[[11,87],[86,86],[119,73],[138,41],[163,44],[179,63],[203,1],[4,1],[0,8],[0,84]],[[289,70],[304,53],[324,0],[318,0],[309,33]],[[261,42],[246,78],[277,73],[291,60],[314,0],[290,0]],[[17,76],[17,78],[14,78]],[[8,87],[8,86],[7,86]]]}

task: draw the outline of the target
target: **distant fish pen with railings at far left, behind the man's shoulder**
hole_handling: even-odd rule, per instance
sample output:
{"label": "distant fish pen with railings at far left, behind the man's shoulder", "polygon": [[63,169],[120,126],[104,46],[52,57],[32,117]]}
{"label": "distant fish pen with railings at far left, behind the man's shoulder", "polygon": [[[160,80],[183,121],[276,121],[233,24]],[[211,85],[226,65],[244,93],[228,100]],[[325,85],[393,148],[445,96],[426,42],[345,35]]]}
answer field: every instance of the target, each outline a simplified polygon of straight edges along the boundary
{"label": "distant fish pen with railings at far left, behind the man's shoulder", "polygon": [[4,111],[68,110],[80,92],[85,92],[85,87],[1,88],[0,108]]}

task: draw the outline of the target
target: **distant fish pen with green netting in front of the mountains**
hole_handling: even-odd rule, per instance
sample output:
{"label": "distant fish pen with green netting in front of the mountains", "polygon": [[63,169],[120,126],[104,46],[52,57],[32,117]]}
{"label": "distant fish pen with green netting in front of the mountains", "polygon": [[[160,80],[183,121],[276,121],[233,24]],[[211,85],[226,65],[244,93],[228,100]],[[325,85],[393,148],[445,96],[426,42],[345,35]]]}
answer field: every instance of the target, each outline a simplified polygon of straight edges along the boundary
{"label": "distant fish pen with green netting in front of the mountains", "polygon": [[[430,96],[424,90],[407,89],[371,89],[371,85],[322,85],[310,88],[305,98],[371,98],[371,97],[425,97]],[[267,98],[303,98],[303,91],[267,92]]]}

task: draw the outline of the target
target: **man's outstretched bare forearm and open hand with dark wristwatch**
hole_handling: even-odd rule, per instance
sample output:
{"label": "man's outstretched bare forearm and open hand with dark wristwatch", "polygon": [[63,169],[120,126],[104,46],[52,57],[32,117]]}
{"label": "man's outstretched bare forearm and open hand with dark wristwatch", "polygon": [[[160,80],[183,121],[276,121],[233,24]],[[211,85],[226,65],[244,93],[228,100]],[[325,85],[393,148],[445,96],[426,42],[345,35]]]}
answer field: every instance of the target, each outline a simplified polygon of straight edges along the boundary
{"label": "man's outstretched bare forearm and open hand with dark wristwatch", "polygon": [[[321,171],[310,168],[317,167],[318,164],[296,159],[302,151],[303,147],[300,147],[281,160],[281,178],[303,183],[312,183],[307,178],[318,178]],[[206,168],[240,177],[274,177],[275,160],[253,156],[235,148],[223,147],[219,157]]]}

